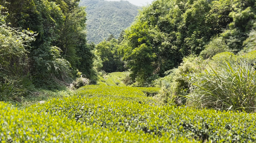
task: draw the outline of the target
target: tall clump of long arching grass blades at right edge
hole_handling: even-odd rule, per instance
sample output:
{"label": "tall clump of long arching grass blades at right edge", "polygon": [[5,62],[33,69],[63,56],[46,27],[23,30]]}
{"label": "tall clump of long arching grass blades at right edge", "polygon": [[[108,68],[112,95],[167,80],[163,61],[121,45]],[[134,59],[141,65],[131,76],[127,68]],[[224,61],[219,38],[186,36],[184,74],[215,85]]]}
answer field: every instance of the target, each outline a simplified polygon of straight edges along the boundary
{"label": "tall clump of long arching grass blades at right edge", "polygon": [[256,71],[246,60],[226,60],[191,79],[189,103],[202,108],[255,112]]}

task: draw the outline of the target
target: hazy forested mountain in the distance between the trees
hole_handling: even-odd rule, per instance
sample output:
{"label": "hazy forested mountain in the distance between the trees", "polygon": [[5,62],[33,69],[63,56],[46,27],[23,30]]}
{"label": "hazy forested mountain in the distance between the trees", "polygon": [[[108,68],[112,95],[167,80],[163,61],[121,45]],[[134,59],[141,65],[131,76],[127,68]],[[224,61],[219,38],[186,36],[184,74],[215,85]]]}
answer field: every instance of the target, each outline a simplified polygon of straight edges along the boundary
{"label": "hazy forested mountain in the distance between the trees", "polygon": [[118,38],[121,31],[131,25],[140,8],[123,0],[81,0],[79,4],[87,7],[87,38],[95,44],[111,34]]}

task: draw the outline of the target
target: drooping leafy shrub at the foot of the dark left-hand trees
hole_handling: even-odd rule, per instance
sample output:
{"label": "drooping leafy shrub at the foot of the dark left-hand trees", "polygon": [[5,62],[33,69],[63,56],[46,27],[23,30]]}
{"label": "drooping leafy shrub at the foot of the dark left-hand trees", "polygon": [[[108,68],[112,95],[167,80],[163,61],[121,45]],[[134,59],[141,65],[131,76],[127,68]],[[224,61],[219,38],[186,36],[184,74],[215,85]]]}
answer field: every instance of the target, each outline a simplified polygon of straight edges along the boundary
{"label": "drooping leafy shrub at the foot of the dark left-hand trees", "polygon": [[35,83],[37,86],[47,86],[54,89],[72,82],[71,64],[60,58],[61,50],[56,46],[44,43],[34,50]]}

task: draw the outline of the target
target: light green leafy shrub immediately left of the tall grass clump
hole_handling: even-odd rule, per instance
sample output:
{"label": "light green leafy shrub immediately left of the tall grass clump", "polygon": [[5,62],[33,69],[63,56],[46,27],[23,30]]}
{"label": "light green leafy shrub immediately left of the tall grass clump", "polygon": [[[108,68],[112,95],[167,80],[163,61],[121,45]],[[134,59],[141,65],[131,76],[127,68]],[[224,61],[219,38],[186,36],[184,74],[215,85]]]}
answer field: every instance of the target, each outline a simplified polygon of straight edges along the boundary
{"label": "light green leafy shrub immediately left of the tall grass clump", "polygon": [[189,93],[190,78],[203,71],[206,61],[194,55],[183,58],[183,62],[178,68],[165,72],[166,76],[154,81],[154,85],[161,87],[158,97],[164,103],[174,103],[184,105],[186,96]]}

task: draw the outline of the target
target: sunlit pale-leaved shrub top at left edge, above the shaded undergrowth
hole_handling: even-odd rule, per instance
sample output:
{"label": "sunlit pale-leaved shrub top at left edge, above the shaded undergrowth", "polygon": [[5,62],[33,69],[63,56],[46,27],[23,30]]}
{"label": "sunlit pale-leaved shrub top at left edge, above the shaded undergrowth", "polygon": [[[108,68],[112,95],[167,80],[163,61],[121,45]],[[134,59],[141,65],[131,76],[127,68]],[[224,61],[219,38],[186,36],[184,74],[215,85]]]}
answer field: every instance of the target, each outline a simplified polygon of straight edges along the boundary
{"label": "sunlit pale-leaved shrub top at left edge, above the shaded undergrowth", "polygon": [[35,40],[36,34],[32,31],[21,31],[7,26],[2,17],[0,15],[0,20],[4,23],[0,23],[0,68],[12,74],[17,74],[17,71],[27,71],[28,51],[25,48],[30,47],[30,42]]}

